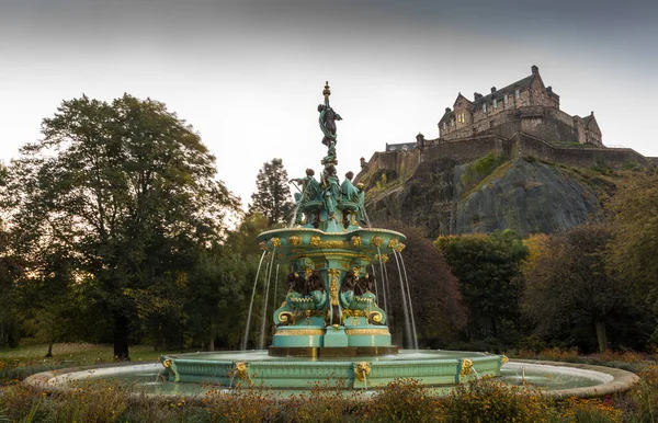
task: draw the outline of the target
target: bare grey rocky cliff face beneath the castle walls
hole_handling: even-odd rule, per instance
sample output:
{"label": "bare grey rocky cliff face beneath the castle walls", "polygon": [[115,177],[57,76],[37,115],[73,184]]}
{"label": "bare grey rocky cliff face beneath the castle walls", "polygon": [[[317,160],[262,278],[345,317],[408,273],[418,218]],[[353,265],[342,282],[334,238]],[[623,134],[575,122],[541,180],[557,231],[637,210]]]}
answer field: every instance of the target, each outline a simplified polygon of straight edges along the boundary
{"label": "bare grey rocky cliff face beneath the castle walls", "polygon": [[464,164],[447,158],[418,160],[409,173],[402,167],[360,175],[370,188],[366,209],[372,221],[401,220],[435,238],[496,229],[551,233],[602,215],[588,183],[533,159],[489,153]]}

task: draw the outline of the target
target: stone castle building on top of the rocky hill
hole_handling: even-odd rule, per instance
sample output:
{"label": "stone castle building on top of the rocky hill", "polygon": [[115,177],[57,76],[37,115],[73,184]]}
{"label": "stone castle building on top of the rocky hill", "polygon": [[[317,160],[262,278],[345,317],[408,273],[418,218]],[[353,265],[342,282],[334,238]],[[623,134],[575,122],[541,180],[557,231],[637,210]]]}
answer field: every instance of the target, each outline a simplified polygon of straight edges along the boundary
{"label": "stone castle building on top of the rocky hill", "polygon": [[525,133],[548,142],[580,142],[603,147],[594,112],[587,117],[571,116],[559,110],[559,95],[545,87],[540,69],[503,89],[491,87],[487,95],[475,93],[473,101],[462,93],[445,108],[439,121],[434,142],[496,134],[510,137]]}

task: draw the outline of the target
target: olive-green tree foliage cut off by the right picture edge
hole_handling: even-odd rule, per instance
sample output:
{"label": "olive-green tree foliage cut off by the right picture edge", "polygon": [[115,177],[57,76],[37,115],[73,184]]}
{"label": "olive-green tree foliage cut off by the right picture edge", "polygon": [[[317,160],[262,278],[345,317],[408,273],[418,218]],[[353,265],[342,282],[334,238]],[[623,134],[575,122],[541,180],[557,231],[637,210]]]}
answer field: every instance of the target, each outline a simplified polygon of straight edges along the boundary
{"label": "olive-green tree foliage cut off by the right picture edge", "polygon": [[634,174],[620,185],[609,204],[614,237],[610,267],[632,281],[640,298],[658,311],[658,174]]}

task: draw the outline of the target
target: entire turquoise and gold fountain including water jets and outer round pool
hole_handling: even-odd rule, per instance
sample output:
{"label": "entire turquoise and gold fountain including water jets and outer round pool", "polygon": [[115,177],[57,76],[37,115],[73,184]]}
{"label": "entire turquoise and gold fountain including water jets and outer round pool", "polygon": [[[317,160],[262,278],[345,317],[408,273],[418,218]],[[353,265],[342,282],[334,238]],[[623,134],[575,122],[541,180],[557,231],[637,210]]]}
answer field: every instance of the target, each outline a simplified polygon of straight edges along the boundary
{"label": "entire turquoise and gold fountain including water jets and outer round pool", "polygon": [[[274,333],[269,350],[167,355],[160,357],[159,364],[77,368],[34,375],[26,381],[44,389],[67,389],[71,380],[113,377],[139,382],[145,392],[152,395],[203,395],[206,384],[220,384],[225,389],[248,384],[282,392],[324,384],[365,391],[395,379],[412,378],[440,395],[477,377],[502,376],[500,380],[511,385],[530,381],[557,392],[554,395],[587,397],[628,389],[637,380],[633,374],[604,367],[507,364],[503,355],[419,351],[411,313],[404,322],[415,348],[394,345],[387,325],[388,286],[383,263],[393,254],[402,279],[406,268],[400,253],[406,238],[396,231],[370,227],[363,185],[352,184],[351,172],[339,184],[336,121],[341,116],[329,104],[328,84],[322,94],[325,102],[318,111],[327,156],[320,162],[319,181],[313,169],[306,171],[305,178],[294,180],[303,188],[296,194],[290,227],[258,237],[263,250],[260,264],[269,263],[266,273],[272,274],[274,264],[291,268],[290,290],[272,317]],[[376,294],[377,267],[384,308]],[[400,284],[400,289],[405,298],[408,284]],[[410,304],[405,308],[412,309]],[[243,350],[250,319],[251,316]],[[397,324],[401,323],[398,319]],[[261,344],[263,332],[261,329]]]}

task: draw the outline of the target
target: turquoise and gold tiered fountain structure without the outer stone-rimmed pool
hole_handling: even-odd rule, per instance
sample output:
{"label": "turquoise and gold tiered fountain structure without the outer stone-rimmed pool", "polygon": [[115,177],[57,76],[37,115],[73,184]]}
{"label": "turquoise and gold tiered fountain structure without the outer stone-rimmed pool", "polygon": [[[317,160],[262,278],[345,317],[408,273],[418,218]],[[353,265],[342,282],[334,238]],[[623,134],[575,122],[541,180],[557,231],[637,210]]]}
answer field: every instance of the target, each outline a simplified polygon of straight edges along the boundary
{"label": "turquoise and gold tiered fountain structure without the outer stone-rimmed pool", "polygon": [[[363,185],[352,172],[340,183],[336,167],[336,121],[329,85],[318,106],[327,156],[319,180],[313,169],[293,180],[302,185],[290,228],[262,232],[258,240],[273,263],[287,264],[290,290],[274,311],[268,354],[250,352],[164,356],[171,381],[249,380],[279,388],[307,388],[317,381],[374,387],[412,377],[428,385],[454,385],[500,375],[503,356],[483,353],[400,352],[392,343],[387,315],[373,294],[371,264],[405,249],[402,233],[366,228]],[[400,323],[401,324],[401,323]]]}

